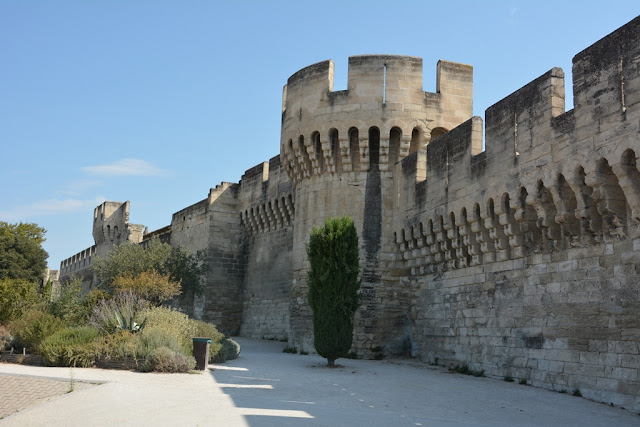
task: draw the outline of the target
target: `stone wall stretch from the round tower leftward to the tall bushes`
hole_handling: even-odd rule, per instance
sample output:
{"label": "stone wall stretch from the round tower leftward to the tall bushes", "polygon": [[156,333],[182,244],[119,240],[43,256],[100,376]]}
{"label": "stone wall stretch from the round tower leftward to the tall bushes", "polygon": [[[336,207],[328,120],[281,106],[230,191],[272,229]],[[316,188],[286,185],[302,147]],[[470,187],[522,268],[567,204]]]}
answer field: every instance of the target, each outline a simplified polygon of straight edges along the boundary
{"label": "stone wall stretch from the round tower leftward to the tall bushes", "polygon": [[225,333],[286,338],[294,215],[292,186],[278,157],[173,214],[171,246],[204,250],[210,260],[204,294],[181,308]]}

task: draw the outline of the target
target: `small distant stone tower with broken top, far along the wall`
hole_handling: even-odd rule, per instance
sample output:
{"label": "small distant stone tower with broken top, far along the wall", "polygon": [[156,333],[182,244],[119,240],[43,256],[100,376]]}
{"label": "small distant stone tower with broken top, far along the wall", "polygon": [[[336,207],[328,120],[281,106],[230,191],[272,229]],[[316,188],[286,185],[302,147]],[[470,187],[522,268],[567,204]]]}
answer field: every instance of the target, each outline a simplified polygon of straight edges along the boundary
{"label": "small distant stone tower with broken top, far along the wall", "polygon": [[93,239],[96,255],[105,256],[124,242],[142,242],[144,226],[129,224],[129,201],[104,202],[93,211]]}

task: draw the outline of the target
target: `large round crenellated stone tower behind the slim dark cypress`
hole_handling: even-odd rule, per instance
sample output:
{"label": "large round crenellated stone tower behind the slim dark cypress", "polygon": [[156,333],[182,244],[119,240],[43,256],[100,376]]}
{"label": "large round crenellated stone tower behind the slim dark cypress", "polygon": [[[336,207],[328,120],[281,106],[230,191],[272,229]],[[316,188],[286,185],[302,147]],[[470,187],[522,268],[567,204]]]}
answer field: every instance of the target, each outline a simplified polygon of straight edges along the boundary
{"label": "large round crenellated stone tower behind the slim dark cypress", "polygon": [[384,344],[400,352],[409,336],[409,289],[393,271],[392,219],[403,197],[398,162],[471,117],[473,69],[438,62],[436,93],[423,91],[421,58],[352,56],[343,91],[333,91],[333,73],[330,60],[306,67],[283,94],[280,158],[296,200],[290,338],[313,348],[309,232],[330,216],[349,215],[363,271],[356,348]]}

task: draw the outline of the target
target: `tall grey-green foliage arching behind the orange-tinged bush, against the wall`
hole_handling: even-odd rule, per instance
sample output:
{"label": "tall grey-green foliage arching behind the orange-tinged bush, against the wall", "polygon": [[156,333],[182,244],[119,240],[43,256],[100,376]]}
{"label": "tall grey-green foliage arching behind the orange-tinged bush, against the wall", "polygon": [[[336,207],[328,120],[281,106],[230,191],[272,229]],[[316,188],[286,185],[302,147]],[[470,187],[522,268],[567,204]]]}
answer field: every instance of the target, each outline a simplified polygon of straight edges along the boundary
{"label": "tall grey-green foliage arching behind the orange-tinged bush, against the wall", "polygon": [[183,248],[172,248],[153,238],[146,248],[132,242],[116,246],[105,257],[96,258],[93,271],[107,289],[113,289],[118,277],[135,278],[143,272],[155,271],[168,275],[171,282],[180,283],[183,293],[199,294],[207,263],[204,251],[190,254]]}

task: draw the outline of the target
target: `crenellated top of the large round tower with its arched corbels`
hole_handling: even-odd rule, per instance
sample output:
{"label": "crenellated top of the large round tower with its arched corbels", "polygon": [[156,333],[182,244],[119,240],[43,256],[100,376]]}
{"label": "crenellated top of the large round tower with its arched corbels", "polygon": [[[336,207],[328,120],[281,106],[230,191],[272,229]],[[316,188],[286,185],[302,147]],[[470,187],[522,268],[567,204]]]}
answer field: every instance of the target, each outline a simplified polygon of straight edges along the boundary
{"label": "crenellated top of the large round tower with its arched corbels", "polygon": [[323,61],[284,88],[280,158],[294,185],[372,165],[389,171],[472,114],[469,65],[439,61],[436,93],[423,91],[422,59],[411,56],[350,57],[345,91],[333,91],[333,77],[333,61]]}

